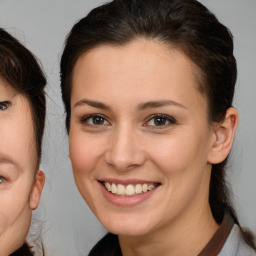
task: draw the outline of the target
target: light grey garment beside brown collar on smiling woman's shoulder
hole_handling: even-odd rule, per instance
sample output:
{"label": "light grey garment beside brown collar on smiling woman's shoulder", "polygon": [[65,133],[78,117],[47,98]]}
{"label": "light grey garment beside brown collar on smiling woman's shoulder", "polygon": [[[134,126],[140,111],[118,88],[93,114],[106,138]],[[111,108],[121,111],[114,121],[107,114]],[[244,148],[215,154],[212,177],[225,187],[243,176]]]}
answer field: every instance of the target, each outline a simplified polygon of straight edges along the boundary
{"label": "light grey garment beside brown collar on smiling woman's shoulder", "polygon": [[218,256],[256,256],[256,252],[244,241],[241,230],[234,224]]}

